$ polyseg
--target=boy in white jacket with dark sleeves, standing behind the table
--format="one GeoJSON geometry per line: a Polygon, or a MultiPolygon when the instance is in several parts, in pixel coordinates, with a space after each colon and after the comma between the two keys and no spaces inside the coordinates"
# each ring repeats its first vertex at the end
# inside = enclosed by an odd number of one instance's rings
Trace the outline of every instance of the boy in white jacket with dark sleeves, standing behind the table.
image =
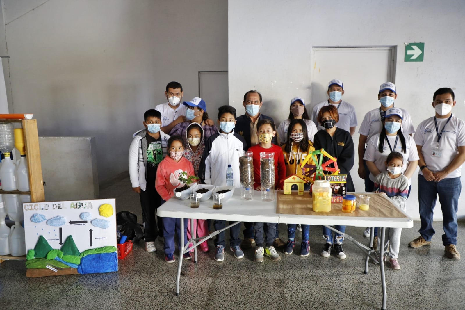
{"type": "MultiPolygon", "coordinates": [[[[205,142],[204,154],[200,161],[199,178],[205,184],[226,185],[226,170],[228,165],[231,165],[234,176],[233,185],[235,188],[240,188],[239,157],[246,150],[246,140],[233,131],[236,124],[236,109],[232,106],[220,106],[218,111],[219,132],[210,136],[205,142]]],[[[213,226],[216,230],[221,230],[226,227],[226,221],[214,220],[213,226]]],[[[229,243],[236,258],[244,257],[244,253],[239,247],[241,242],[239,231],[240,223],[230,229],[229,243]]],[[[221,231],[217,236],[215,239],[215,260],[222,262],[225,259],[225,232],[221,231]]]]}

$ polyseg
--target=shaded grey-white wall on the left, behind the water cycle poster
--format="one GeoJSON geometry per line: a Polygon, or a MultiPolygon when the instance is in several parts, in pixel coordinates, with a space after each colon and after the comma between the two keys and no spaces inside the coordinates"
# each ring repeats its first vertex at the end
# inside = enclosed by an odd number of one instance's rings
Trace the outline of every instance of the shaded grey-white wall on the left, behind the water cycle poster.
{"type": "Polygon", "coordinates": [[[191,99],[199,71],[227,70],[226,0],[2,2],[10,112],[33,113],[40,136],[96,137],[100,182],[128,169],[168,82],[191,99]]]}

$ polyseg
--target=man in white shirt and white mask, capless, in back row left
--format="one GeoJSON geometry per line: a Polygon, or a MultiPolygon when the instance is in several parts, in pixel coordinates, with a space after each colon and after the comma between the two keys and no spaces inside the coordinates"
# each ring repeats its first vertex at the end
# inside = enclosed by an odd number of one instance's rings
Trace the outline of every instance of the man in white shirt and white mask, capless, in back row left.
{"type": "Polygon", "coordinates": [[[186,120],[186,108],[181,105],[182,95],[182,86],[178,82],[169,82],[166,85],[165,96],[168,102],[155,107],[161,113],[162,132],[169,133],[175,125],[186,120]]]}

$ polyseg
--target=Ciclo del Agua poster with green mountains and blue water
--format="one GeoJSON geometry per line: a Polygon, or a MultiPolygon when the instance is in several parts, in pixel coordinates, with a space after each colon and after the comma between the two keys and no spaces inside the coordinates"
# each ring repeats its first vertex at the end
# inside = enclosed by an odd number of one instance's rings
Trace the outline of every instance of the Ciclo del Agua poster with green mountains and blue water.
{"type": "Polygon", "coordinates": [[[118,271],[115,199],[24,203],[28,277],[118,271]]]}

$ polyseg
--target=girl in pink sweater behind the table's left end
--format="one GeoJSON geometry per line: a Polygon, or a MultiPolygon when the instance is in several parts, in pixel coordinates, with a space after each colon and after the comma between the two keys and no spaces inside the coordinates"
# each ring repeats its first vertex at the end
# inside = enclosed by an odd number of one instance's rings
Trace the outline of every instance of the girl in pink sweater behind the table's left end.
{"type": "MultiPolygon", "coordinates": [[[[187,175],[195,175],[192,163],[183,157],[184,147],[183,139],[181,136],[172,136],[168,140],[168,152],[166,156],[158,165],[157,178],[155,179],[155,189],[158,191],[162,204],[169,198],[174,196],[174,189],[181,185],[179,175],[182,172],[187,172],[187,175]]],[[[182,186],[182,185],[181,185],[182,186]]],[[[163,218],[163,237],[165,261],[167,263],[174,263],[174,231],[178,234],[179,251],[181,250],[181,221],[179,218],[163,218]]],[[[184,219],[184,245],[187,244],[187,218],[184,219]]],[[[184,259],[191,259],[191,254],[186,253],[183,255],[184,259]]]]}

